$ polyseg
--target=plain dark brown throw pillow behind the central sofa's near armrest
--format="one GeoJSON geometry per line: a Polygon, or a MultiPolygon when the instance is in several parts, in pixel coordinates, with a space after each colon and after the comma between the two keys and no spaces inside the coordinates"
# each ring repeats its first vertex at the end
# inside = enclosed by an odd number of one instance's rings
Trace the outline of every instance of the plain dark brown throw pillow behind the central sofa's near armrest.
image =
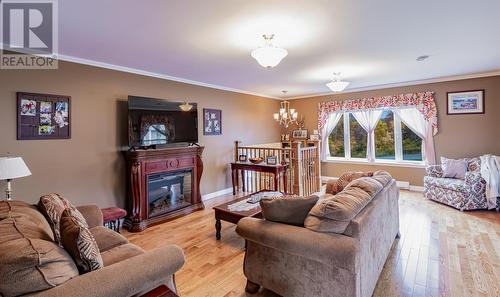
{"type": "Polygon", "coordinates": [[[272,222],[303,226],[304,220],[319,197],[280,197],[260,200],[263,217],[272,222]]]}

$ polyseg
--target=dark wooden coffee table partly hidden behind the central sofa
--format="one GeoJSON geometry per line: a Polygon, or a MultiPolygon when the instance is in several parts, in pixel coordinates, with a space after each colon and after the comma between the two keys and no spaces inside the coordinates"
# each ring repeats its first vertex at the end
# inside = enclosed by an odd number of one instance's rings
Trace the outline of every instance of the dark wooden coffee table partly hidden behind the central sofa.
{"type": "Polygon", "coordinates": [[[238,198],[236,200],[232,200],[230,202],[226,202],[224,204],[217,205],[214,207],[214,211],[215,211],[215,238],[217,238],[217,240],[220,240],[220,238],[221,238],[221,233],[220,233],[220,231],[222,229],[221,220],[226,221],[226,222],[230,222],[233,224],[237,224],[239,220],[241,220],[242,218],[245,218],[245,217],[262,218],[260,205],[258,203],[257,203],[257,207],[252,208],[248,211],[231,211],[231,210],[229,210],[229,205],[234,204],[234,203],[239,202],[239,201],[242,201],[242,200],[246,200],[246,199],[248,199],[248,197],[250,197],[256,193],[260,193],[260,192],[270,192],[270,191],[269,190],[258,191],[258,192],[248,194],[248,195],[243,196],[241,198],[238,198]]]}

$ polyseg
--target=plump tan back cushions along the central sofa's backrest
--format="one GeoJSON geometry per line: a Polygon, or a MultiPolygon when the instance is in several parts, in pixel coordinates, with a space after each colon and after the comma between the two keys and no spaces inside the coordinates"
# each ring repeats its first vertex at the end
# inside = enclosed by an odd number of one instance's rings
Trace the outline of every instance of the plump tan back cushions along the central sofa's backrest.
{"type": "Polygon", "coordinates": [[[384,171],[353,180],[342,192],[320,200],[309,212],[304,226],[316,232],[343,233],[349,222],[391,180],[384,171]]]}

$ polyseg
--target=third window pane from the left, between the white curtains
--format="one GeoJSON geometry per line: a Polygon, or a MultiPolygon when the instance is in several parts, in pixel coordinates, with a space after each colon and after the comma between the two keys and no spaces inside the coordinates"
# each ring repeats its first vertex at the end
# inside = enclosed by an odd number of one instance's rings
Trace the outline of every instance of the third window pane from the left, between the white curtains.
{"type": "Polygon", "coordinates": [[[396,159],[394,113],[390,110],[384,110],[375,127],[375,159],[396,159]]]}

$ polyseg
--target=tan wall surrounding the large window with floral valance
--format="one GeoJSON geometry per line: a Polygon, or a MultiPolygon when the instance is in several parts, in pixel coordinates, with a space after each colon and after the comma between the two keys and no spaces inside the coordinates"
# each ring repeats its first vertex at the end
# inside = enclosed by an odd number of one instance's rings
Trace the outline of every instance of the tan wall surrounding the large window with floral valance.
{"type": "MultiPolygon", "coordinates": [[[[438,109],[439,133],[434,138],[436,156],[450,158],[478,156],[485,153],[500,155],[500,76],[388,88],[339,95],[292,100],[293,108],[305,116],[306,128],[317,129],[318,103],[403,93],[434,91],[438,109]],[[485,89],[484,115],[446,115],[446,92],[485,89]]],[[[425,170],[421,168],[322,163],[322,175],[339,176],[348,170],[383,169],[396,179],[421,186],[425,170]]]]}

